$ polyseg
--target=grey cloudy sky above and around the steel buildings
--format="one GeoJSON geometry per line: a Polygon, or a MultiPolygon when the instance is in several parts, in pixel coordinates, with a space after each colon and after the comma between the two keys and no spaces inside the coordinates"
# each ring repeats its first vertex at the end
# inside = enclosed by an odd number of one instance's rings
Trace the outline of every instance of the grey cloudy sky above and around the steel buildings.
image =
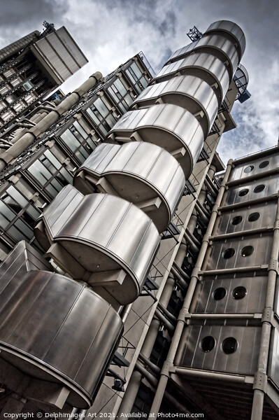
{"type": "Polygon", "coordinates": [[[143,51],[155,71],[183,45],[194,25],[203,32],[216,20],[243,29],[242,64],[252,97],[236,102],[237,128],[224,134],[219,153],[227,162],[277,144],[279,134],[279,0],[1,0],[0,48],[38,29],[43,20],[64,25],[89,59],[63,86],[73,90],[85,78],[106,75],[143,51]]]}

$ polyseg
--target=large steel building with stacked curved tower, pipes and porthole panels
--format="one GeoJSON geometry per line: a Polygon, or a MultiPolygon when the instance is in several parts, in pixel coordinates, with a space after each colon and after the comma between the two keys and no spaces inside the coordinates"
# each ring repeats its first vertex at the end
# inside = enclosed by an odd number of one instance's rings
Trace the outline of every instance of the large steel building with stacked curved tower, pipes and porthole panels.
{"type": "Polygon", "coordinates": [[[244,49],[215,22],[2,132],[2,415],[276,418],[276,155],[215,176],[244,49]]]}

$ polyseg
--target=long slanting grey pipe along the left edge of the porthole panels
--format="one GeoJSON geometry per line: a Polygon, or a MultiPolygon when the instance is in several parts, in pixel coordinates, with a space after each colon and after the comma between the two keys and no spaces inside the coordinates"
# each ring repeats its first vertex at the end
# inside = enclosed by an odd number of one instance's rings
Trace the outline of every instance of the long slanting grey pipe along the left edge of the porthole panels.
{"type": "Polygon", "coordinates": [[[153,415],[154,418],[157,418],[158,412],[159,412],[159,407],[161,405],[162,402],[162,398],[164,396],[164,391],[166,389],[166,384],[169,380],[169,369],[171,366],[173,366],[173,360],[176,356],[176,351],[178,348],[178,344],[180,342],[180,338],[183,334],[183,329],[184,329],[184,325],[185,325],[185,314],[189,313],[189,305],[192,302],[192,297],[194,295],[194,290],[196,288],[196,282],[198,281],[198,273],[199,270],[201,269],[201,265],[203,263],[203,259],[206,255],[206,251],[208,248],[208,238],[210,237],[210,235],[213,232],[213,227],[215,225],[215,221],[217,218],[217,209],[220,206],[220,203],[222,201],[222,197],[224,195],[224,190],[226,188],[226,183],[229,179],[229,174],[231,172],[231,160],[229,160],[228,165],[227,165],[227,170],[224,174],[224,179],[222,181],[222,184],[220,186],[220,191],[217,195],[217,199],[215,202],[215,206],[213,207],[213,211],[212,211],[212,215],[210,217],[210,221],[208,223],[208,228],[206,230],[206,235],[204,235],[203,237],[203,242],[201,244],[201,251],[199,253],[199,256],[196,260],[196,265],[193,269],[192,272],[192,277],[191,277],[191,281],[189,284],[189,288],[187,290],[187,295],[185,297],[184,303],[183,303],[183,308],[180,311],[180,314],[178,316],[178,323],[176,324],[176,330],[174,332],[173,335],[173,339],[171,341],[171,346],[169,349],[169,353],[168,356],[166,357],[166,361],[164,363],[164,366],[162,368],[162,372],[161,372],[161,376],[159,379],[159,384],[157,386],[157,391],[155,393],[155,398],[152,402],[152,407],[150,409],[150,412],[153,415]]]}

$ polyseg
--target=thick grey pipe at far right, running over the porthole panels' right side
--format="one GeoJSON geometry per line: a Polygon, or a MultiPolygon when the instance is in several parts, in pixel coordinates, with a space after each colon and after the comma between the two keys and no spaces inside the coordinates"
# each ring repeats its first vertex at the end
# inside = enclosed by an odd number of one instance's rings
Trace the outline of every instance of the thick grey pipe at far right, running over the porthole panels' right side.
{"type": "Polygon", "coordinates": [[[252,403],[251,420],[262,418],[264,408],[264,387],[259,386],[257,377],[267,379],[267,366],[269,361],[269,346],[271,340],[271,317],[273,314],[273,303],[276,293],[276,278],[278,272],[278,253],[279,253],[279,199],[277,202],[276,221],[273,230],[273,243],[271,248],[271,258],[269,261],[269,274],[266,288],[266,302],[262,316],[262,335],[259,346],[259,358],[257,365],[257,374],[254,381],[254,395],[252,403]]]}

